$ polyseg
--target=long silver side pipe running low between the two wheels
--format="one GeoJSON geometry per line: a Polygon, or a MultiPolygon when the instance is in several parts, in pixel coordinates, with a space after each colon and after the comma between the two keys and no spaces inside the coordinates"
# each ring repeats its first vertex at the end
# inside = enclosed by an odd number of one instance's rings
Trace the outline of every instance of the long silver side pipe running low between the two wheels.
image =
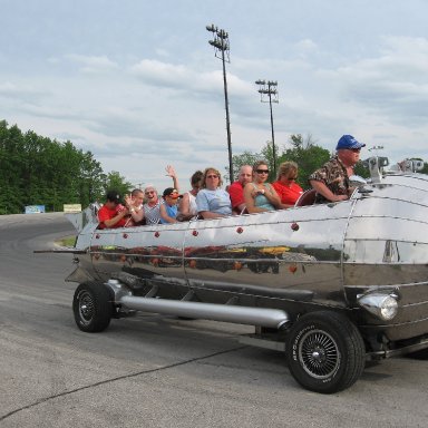
{"type": "Polygon", "coordinates": [[[169,315],[198,318],[233,322],[239,324],[261,325],[281,329],[289,321],[289,315],[280,309],[234,307],[215,303],[198,303],[183,300],[139,298],[121,295],[116,303],[136,311],[165,313],[169,315]]]}

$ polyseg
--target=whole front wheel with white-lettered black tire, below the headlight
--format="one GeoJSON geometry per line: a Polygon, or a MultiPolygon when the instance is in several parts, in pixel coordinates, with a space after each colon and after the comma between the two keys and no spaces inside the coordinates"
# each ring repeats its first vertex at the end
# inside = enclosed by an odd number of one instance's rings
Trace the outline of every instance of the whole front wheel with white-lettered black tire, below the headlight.
{"type": "Polygon", "coordinates": [[[285,354],[293,378],[321,393],[349,388],[366,363],[364,342],[357,327],[330,311],[301,317],[286,335],[285,354]]]}

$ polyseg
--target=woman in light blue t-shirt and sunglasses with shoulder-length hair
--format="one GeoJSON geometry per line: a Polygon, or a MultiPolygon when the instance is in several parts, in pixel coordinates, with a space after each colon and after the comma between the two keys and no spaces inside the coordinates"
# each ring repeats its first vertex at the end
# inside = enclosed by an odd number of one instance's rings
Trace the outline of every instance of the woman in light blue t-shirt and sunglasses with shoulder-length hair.
{"type": "Polygon", "coordinates": [[[228,193],[221,188],[222,176],[216,168],[206,168],[196,195],[197,212],[203,218],[217,218],[232,215],[228,193]]]}

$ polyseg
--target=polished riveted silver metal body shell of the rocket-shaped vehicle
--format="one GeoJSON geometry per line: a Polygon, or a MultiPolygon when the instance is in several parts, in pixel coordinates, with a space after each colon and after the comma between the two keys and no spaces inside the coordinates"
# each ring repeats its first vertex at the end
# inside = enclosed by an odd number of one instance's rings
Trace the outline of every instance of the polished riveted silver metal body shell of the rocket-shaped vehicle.
{"type": "Polygon", "coordinates": [[[140,279],[134,295],[156,286],[167,300],[192,292],[192,302],[279,309],[292,320],[341,311],[372,351],[428,335],[427,175],[383,174],[332,204],[116,230],[98,230],[93,208],[75,224],[69,281],[127,272],[140,279]],[[374,292],[398,300],[393,319],[359,304],[374,292]]]}

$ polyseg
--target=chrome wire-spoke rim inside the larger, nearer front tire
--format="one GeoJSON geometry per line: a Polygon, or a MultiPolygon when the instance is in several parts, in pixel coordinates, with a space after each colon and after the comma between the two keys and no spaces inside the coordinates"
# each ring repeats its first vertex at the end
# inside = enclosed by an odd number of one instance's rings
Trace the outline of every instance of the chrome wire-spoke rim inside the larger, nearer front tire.
{"type": "Polygon", "coordinates": [[[298,354],[304,371],[317,379],[330,378],[340,367],[338,344],[322,330],[307,332],[301,339],[298,354]]]}

